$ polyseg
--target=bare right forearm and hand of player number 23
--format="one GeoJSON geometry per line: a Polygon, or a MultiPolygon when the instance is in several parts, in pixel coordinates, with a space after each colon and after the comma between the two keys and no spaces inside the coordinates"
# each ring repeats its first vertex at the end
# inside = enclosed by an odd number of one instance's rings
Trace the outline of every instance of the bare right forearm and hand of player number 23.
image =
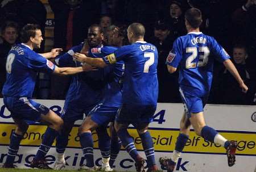
{"type": "Polygon", "coordinates": [[[245,83],[243,83],[243,79],[240,77],[240,74],[238,73],[237,68],[236,66],[234,66],[233,62],[228,59],[228,60],[225,60],[223,64],[226,67],[226,69],[228,69],[228,71],[233,75],[233,77],[236,78],[242,91],[246,93],[248,90],[248,87],[245,85],[245,83]]]}

